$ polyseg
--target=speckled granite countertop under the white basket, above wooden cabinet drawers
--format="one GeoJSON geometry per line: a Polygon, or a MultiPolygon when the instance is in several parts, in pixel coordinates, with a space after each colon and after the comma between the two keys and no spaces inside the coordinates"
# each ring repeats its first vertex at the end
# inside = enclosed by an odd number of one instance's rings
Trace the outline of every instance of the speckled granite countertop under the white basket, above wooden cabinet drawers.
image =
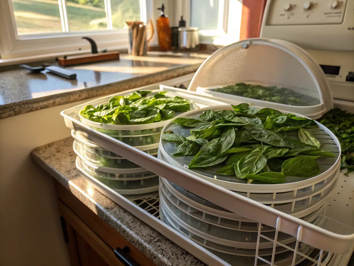
{"type": "Polygon", "coordinates": [[[92,188],[76,170],[72,138],[36,148],[32,156],[41,167],[153,261],[156,266],[206,265],[92,188]]]}

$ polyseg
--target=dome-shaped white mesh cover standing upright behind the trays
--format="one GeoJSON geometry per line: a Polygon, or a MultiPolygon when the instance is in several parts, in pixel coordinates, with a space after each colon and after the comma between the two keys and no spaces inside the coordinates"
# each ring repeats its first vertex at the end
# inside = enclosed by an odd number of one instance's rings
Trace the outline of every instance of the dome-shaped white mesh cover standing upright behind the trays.
{"type": "Polygon", "coordinates": [[[219,49],[199,67],[188,90],[311,118],[333,108],[322,69],[306,51],[282,40],[247,39],[219,49]]]}

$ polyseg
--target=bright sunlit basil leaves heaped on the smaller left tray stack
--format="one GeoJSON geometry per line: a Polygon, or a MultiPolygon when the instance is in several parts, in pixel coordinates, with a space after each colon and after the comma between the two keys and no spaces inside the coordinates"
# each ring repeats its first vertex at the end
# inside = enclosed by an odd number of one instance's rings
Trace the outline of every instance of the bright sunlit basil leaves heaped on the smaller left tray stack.
{"type": "Polygon", "coordinates": [[[149,91],[137,91],[126,96],[115,96],[105,104],[87,105],[80,115],[90,121],[118,125],[147,124],[169,120],[176,112],[190,110],[190,102],[179,96],[166,97],[166,92],[147,97],[149,91]]]}

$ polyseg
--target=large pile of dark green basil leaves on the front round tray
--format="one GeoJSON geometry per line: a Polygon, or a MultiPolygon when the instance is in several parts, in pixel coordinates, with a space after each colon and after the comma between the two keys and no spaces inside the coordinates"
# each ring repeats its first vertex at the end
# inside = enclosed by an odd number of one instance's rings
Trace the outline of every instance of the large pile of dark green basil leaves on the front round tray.
{"type": "Polygon", "coordinates": [[[311,119],[248,104],[232,107],[206,110],[199,119],[175,119],[173,123],[189,127],[192,135],[163,134],[162,139],[178,145],[172,156],[195,155],[188,168],[222,165],[216,174],[263,183],[282,183],[286,176],[316,176],[319,157],[336,157],[321,150],[319,141],[305,129],[317,126],[311,119]],[[299,140],[286,134],[298,135],[299,140]]]}

